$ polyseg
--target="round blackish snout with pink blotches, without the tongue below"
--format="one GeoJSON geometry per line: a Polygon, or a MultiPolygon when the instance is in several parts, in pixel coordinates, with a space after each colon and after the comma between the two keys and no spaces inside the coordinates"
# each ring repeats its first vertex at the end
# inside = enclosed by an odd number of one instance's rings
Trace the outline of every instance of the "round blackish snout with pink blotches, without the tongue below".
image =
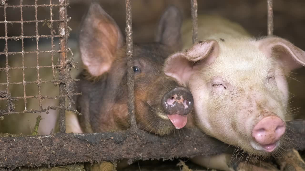
{"type": "Polygon", "coordinates": [[[194,106],[194,98],[187,88],[178,86],[164,94],[161,105],[168,115],[187,115],[194,106]]]}

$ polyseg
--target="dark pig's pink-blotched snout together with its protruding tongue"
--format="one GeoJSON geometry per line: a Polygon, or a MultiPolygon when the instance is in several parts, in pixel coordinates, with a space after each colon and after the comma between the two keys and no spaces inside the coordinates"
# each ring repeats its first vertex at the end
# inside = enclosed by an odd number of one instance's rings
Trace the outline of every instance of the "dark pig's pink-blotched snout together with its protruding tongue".
{"type": "Polygon", "coordinates": [[[185,87],[178,86],[168,91],[161,99],[164,113],[175,126],[180,129],[187,122],[187,114],[191,112],[194,105],[192,93],[185,87]]]}

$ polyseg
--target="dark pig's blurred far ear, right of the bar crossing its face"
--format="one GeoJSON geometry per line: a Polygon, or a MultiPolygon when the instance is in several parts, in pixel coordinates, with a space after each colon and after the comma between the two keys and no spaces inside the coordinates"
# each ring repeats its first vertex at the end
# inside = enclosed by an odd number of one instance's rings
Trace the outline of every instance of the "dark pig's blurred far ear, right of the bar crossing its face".
{"type": "Polygon", "coordinates": [[[176,6],[170,6],[161,16],[156,32],[156,42],[160,42],[172,48],[174,51],[181,51],[181,25],[182,15],[176,6]]]}

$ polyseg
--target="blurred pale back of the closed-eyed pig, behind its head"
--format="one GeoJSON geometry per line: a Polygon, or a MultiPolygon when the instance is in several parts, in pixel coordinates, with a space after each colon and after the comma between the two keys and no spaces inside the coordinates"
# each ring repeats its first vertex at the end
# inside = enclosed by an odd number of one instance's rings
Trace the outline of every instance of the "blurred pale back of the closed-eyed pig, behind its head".
{"type": "MultiPolygon", "coordinates": [[[[192,46],[192,20],[184,21],[181,28],[183,49],[188,49],[192,46]]],[[[247,36],[249,33],[237,23],[233,23],[220,16],[198,16],[198,40],[208,40],[220,38],[224,39],[227,35],[230,37],[239,38],[247,36]]],[[[225,39],[224,39],[225,40],[225,39]]]]}

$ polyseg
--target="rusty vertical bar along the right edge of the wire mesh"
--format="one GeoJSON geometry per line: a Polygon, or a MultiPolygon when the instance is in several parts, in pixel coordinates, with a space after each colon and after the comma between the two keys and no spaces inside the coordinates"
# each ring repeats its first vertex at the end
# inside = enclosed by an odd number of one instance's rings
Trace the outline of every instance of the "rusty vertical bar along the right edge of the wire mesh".
{"type": "MultiPolygon", "coordinates": [[[[59,63],[63,67],[59,68],[59,80],[63,81],[66,79],[66,59],[67,59],[67,21],[66,21],[66,0],[59,0],[59,19],[62,20],[59,22],[58,25],[58,31],[59,31],[59,48],[62,52],[59,52],[59,63]]],[[[65,97],[63,97],[66,94],[65,92],[65,84],[61,82],[59,84],[59,95],[62,96],[59,98],[59,132],[65,133],[66,132],[66,117],[65,117],[65,106],[66,106],[66,100],[65,97]]]]}

